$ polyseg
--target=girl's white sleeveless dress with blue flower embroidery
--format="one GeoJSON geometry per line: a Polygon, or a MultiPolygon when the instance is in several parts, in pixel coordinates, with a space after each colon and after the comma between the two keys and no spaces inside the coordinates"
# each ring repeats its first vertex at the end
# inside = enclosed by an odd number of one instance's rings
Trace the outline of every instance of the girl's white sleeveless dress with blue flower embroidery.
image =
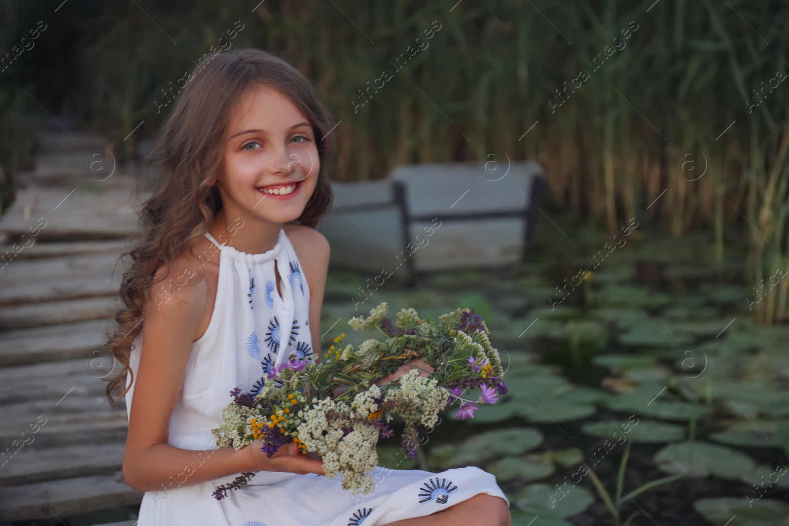
{"type": "MultiPolygon", "coordinates": [[[[197,467],[216,449],[211,429],[222,422],[230,390],[254,390],[256,382],[291,356],[312,353],[308,324],[309,288],[285,230],[268,252],[248,254],[209,240],[220,251],[219,288],[205,334],[193,343],[181,394],[170,416],[168,443],[193,454],[197,467]],[[275,286],[275,263],[282,297],[275,286]]],[[[176,291],[177,293],[177,291],[176,291]]],[[[130,366],[140,364],[142,333],[135,339],[130,366]]],[[[320,353],[320,349],[316,352],[320,353]]],[[[126,385],[129,385],[127,375],[126,385]]],[[[132,386],[125,396],[131,411],[132,386]]],[[[189,483],[189,471],[147,491],[138,526],[377,526],[423,517],[476,494],[507,497],[495,477],[481,468],[433,473],[376,467],[372,494],[352,494],[334,479],[315,473],[257,472],[247,486],[216,500],[212,493],[235,475],[189,483]]]]}

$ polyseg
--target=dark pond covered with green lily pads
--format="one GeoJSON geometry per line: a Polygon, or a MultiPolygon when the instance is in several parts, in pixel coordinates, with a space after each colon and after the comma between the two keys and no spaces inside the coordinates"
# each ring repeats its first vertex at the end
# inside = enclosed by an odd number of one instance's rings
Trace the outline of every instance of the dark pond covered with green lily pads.
{"type": "Polygon", "coordinates": [[[727,246],[720,263],[712,233],[634,230],[590,259],[611,235],[560,219],[540,225],[526,263],[412,288],[394,276],[357,308],[372,276],[330,273],[325,341],[360,343],[346,320],[383,301],[431,319],[469,307],[507,369],[498,404],[424,430],[421,462],[393,438],[380,464],[479,466],[522,526],[787,524],[789,326],[751,321],[744,253],[727,246]]]}

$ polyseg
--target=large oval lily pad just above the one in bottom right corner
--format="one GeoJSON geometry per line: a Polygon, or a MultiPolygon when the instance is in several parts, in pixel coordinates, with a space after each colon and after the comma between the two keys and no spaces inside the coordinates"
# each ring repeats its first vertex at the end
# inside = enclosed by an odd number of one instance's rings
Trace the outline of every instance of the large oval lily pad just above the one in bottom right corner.
{"type": "Polygon", "coordinates": [[[709,442],[671,444],[656,453],[655,461],[658,468],[667,473],[716,475],[724,479],[739,479],[756,467],[753,458],[745,453],[709,442]]]}

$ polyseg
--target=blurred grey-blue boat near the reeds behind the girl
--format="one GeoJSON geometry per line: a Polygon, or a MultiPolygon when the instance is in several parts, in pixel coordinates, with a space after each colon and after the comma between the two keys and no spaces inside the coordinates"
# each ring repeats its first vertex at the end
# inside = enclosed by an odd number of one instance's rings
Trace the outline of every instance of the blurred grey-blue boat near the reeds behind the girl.
{"type": "Polygon", "coordinates": [[[334,206],[318,226],[332,267],[388,268],[411,281],[429,270],[524,261],[546,185],[536,162],[513,162],[506,174],[452,162],[398,166],[385,179],[332,188],[334,206]]]}

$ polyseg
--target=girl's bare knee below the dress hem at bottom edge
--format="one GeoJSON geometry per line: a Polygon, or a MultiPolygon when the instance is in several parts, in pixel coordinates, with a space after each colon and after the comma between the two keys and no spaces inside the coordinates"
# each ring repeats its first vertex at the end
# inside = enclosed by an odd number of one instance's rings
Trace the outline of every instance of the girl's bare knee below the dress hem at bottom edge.
{"type": "Polygon", "coordinates": [[[512,526],[512,517],[503,498],[481,493],[436,513],[382,526],[512,526]]]}

